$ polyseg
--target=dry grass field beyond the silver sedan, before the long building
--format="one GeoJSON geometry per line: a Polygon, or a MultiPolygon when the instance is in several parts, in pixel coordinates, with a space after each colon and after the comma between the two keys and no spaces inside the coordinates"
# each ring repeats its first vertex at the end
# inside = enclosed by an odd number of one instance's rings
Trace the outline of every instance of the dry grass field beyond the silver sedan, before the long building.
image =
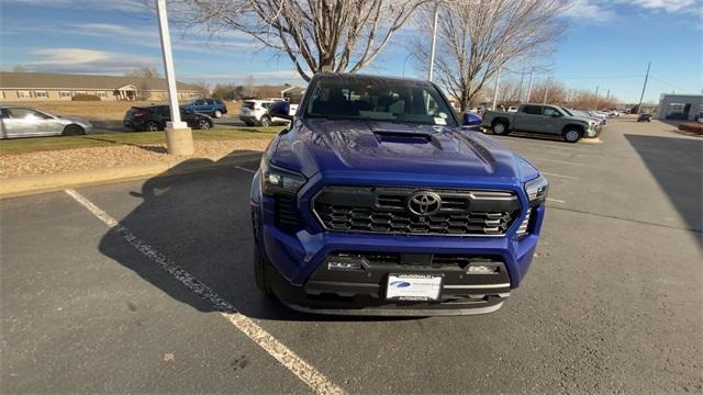
{"type": "MultiPolygon", "coordinates": [[[[185,104],[186,102],[181,102],[185,104]]],[[[54,115],[80,116],[86,120],[122,120],[133,105],[166,104],[165,101],[25,101],[2,102],[3,105],[26,105],[54,115]]],[[[239,104],[227,102],[230,116],[239,113],[239,104]]]]}

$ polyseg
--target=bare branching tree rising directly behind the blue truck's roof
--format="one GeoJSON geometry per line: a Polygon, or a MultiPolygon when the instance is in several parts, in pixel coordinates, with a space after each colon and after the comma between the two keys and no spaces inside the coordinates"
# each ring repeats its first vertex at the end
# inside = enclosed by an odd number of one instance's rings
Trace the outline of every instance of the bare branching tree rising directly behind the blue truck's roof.
{"type": "Polygon", "coordinates": [[[191,21],[234,30],[287,55],[310,81],[321,71],[368,66],[427,0],[180,0],[191,21]]]}

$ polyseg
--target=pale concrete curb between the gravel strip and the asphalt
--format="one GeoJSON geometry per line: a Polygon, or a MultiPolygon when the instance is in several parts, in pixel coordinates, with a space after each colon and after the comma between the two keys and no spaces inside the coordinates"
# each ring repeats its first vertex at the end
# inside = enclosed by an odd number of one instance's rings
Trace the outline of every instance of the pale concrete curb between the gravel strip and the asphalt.
{"type": "Polygon", "coordinates": [[[0,198],[53,192],[66,188],[98,185],[113,182],[143,180],[152,177],[187,174],[233,167],[258,160],[261,153],[233,154],[217,161],[207,158],[189,158],[170,163],[147,163],[108,169],[71,171],[58,174],[24,176],[0,180],[0,198]]]}

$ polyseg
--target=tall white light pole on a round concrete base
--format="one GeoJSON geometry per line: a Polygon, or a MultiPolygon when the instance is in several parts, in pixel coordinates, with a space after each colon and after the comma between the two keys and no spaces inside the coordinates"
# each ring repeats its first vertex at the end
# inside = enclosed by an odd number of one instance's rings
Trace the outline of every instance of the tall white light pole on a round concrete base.
{"type": "Polygon", "coordinates": [[[174,54],[171,53],[171,37],[168,32],[168,15],[166,0],[156,1],[158,14],[158,31],[161,38],[161,55],[164,57],[164,75],[168,86],[168,105],[171,111],[171,122],[166,123],[166,147],[171,155],[191,155],[193,153],[193,134],[185,122],[180,120],[178,106],[178,91],[176,90],[176,74],[174,71],[174,54]]]}

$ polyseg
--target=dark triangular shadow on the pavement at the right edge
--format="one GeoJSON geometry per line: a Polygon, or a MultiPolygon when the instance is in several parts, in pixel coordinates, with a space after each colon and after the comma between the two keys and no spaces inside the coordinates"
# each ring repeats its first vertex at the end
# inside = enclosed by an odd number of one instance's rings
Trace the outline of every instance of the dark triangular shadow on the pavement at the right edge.
{"type": "Polygon", "coordinates": [[[703,140],[633,134],[625,138],[703,246],[703,140]]]}

